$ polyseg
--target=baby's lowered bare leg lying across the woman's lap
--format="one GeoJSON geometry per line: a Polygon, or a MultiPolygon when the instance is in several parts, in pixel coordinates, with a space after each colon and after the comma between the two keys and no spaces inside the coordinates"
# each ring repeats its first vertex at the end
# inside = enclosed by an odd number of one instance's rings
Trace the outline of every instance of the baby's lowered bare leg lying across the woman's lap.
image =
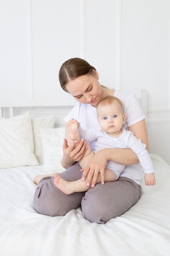
{"type": "MultiPolygon", "coordinates": [[[[111,171],[110,169],[106,168],[104,173],[104,180],[105,182],[113,182],[116,180],[116,175],[111,171]]],[[[101,182],[101,176],[98,175],[97,183],[101,182]]],[[[91,186],[86,186],[86,181],[76,180],[73,182],[68,182],[60,177],[59,174],[57,174],[54,177],[54,184],[55,186],[60,189],[64,194],[69,195],[74,192],[84,192],[91,188],[91,186]]]]}

